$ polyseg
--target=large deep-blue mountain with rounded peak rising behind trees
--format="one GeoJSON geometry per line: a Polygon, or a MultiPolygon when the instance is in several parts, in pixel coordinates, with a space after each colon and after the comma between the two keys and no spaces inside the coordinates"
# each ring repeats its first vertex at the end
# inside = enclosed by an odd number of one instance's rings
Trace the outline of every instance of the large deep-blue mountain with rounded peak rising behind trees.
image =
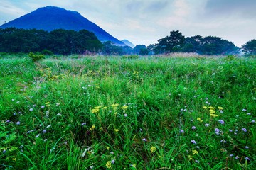
{"type": "Polygon", "coordinates": [[[124,45],[123,42],[117,40],[112,35],[107,33],[105,30],[97,26],[95,23],[87,20],[76,11],[68,11],[64,8],[58,8],[55,6],[46,6],[38,8],[36,11],[28,13],[20,18],[16,18],[13,21],[4,23],[0,28],[23,28],[38,30],[89,30],[95,33],[97,38],[104,41],[112,41],[114,45],[124,45]]]}

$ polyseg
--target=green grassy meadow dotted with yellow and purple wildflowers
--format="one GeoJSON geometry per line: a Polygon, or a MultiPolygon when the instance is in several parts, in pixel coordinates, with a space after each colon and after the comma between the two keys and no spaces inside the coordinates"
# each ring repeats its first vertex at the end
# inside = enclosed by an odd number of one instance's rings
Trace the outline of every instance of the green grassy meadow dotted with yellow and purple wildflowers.
{"type": "Polygon", "coordinates": [[[0,169],[254,169],[252,57],[0,58],[0,169]]]}

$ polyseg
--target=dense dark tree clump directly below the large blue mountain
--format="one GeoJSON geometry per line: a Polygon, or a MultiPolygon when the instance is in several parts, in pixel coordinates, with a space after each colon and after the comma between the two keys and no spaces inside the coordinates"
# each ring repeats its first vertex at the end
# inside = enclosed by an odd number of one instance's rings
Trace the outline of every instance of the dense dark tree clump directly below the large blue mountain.
{"type": "Polygon", "coordinates": [[[71,55],[98,52],[102,43],[88,30],[25,30],[0,28],[0,52],[53,52],[71,55]]]}

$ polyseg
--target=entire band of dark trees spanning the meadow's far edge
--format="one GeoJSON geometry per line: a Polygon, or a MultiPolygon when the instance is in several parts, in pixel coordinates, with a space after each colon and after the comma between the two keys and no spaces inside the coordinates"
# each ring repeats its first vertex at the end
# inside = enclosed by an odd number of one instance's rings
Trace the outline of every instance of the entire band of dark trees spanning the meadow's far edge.
{"type": "Polygon", "coordinates": [[[185,37],[178,30],[158,40],[158,43],[129,46],[117,46],[113,42],[100,42],[94,33],[88,30],[57,29],[25,30],[18,28],[0,28],[0,52],[41,52],[46,55],[101,54],[101,55],[161,55],[171,52],[196,52],[199,55],[236,55],[241,52],[255,55],[256,40],[250,40],[242,49],[233,42],[215,36],[196,35],[185,37]]]}

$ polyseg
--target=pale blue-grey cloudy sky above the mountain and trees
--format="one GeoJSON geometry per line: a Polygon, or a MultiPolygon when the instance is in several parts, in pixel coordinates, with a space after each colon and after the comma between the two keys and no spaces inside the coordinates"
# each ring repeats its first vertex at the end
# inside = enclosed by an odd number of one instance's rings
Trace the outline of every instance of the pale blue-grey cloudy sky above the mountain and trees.
{"type": "Polygon", "coordinates": [[[44,6],[78,11],[119,40],[154,44],[171,30],[239,47],[256,38],[256,0],[1,0],[0,25],[44,6]]]}

